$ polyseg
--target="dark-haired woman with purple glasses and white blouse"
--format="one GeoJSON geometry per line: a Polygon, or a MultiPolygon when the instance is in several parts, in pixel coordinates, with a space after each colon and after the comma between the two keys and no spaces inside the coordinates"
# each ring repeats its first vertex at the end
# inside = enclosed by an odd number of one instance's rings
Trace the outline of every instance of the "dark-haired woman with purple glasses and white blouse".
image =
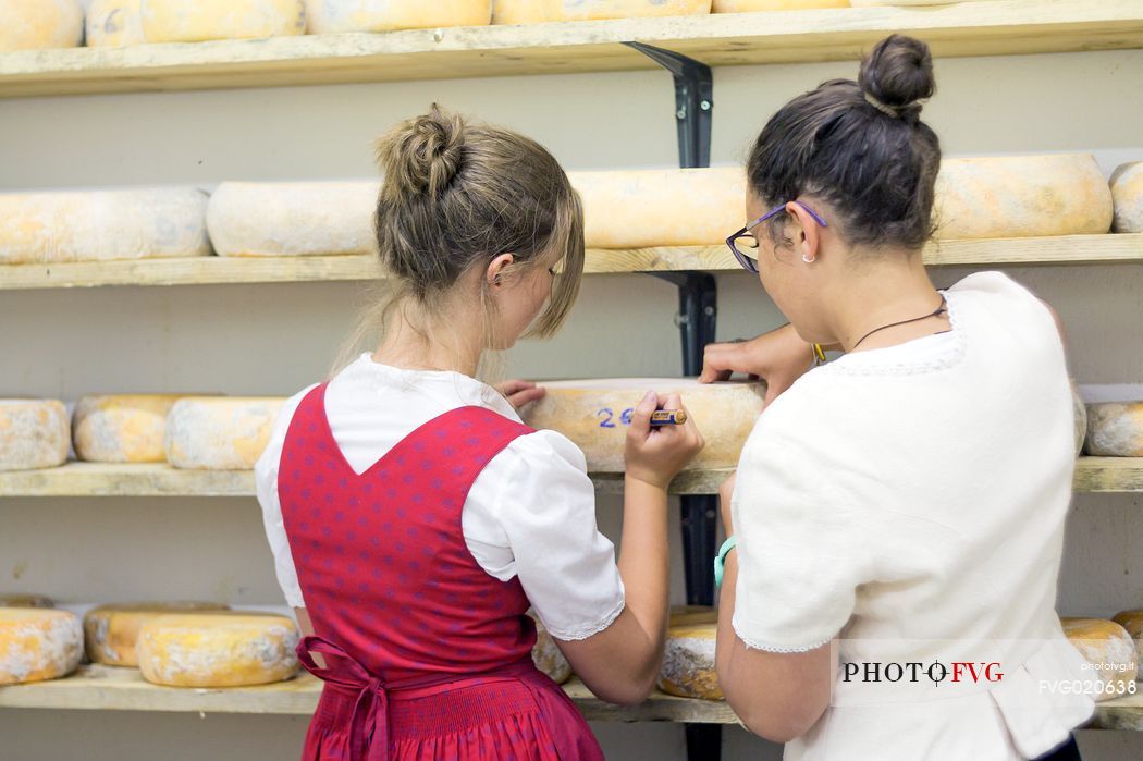
{"type": "Polygon", "coordinates": [[[930,281],[934,88],[927,46],[894,35],[788,103],[727,239],[791,325],[706,351],[704,380],[769,383],[721,495],[718,673],[788,760],[1076,759],[1093,710],[1055,612],[1058,323],[998,272],[930,281]]]}

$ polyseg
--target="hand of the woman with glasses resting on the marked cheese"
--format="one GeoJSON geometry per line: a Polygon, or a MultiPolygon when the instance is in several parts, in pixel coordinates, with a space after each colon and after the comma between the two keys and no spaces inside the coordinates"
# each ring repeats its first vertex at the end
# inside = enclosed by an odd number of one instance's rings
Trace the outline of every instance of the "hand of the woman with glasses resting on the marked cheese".
{"type": "Polygon", "coordinates": [[[788,325],[741,343],[708,344],[698,382],[726,380],[732,373],[748,373],[766,380],[765,403],[769,406],[806,374],[813,359],[813,347],[788,325]]]}

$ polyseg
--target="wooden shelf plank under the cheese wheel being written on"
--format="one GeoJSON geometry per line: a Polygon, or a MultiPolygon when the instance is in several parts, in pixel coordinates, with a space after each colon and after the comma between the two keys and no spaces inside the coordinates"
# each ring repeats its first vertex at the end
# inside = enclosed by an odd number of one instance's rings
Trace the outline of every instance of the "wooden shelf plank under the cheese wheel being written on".
{"type": "MultiPolygon", "coordinates": [[[[684,471],[671,494],[718,494],[730,468],[684,471]]],[[[592,473],[599,494],[622,494],[622,473],[592,473]]],[[[1143,458],[1080,457],[1076,491],[1143,491],[1143,458]]],[[[42,471],[0,472],[0,497],[253,497],[253,471],[181,471],[163,463],[71,462],[42,471]]]]}

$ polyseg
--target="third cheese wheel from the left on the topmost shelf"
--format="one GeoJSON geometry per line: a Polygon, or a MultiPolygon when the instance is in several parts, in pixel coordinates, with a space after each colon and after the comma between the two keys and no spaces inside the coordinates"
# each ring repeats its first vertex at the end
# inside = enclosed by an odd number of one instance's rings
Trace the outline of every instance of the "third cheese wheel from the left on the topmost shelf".
{"type": "Polygon", "coordinates": [[[303,0],[145,0],[146,42],[201,42],[305,34],[303,0]]]}

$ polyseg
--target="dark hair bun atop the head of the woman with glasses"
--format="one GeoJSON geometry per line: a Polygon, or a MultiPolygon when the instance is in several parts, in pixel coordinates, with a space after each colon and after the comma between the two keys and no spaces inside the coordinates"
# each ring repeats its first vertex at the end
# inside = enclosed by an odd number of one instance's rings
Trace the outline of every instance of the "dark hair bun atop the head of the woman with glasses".
{"type": "Polygon", "coordinates": [[[878,42],[862,62],[857,82],[866,95],[900,115],[916,118],[921,110],[918,101],[932,97],[936,90],[933,55],[920,40],[893,34],[878,42]]]}

